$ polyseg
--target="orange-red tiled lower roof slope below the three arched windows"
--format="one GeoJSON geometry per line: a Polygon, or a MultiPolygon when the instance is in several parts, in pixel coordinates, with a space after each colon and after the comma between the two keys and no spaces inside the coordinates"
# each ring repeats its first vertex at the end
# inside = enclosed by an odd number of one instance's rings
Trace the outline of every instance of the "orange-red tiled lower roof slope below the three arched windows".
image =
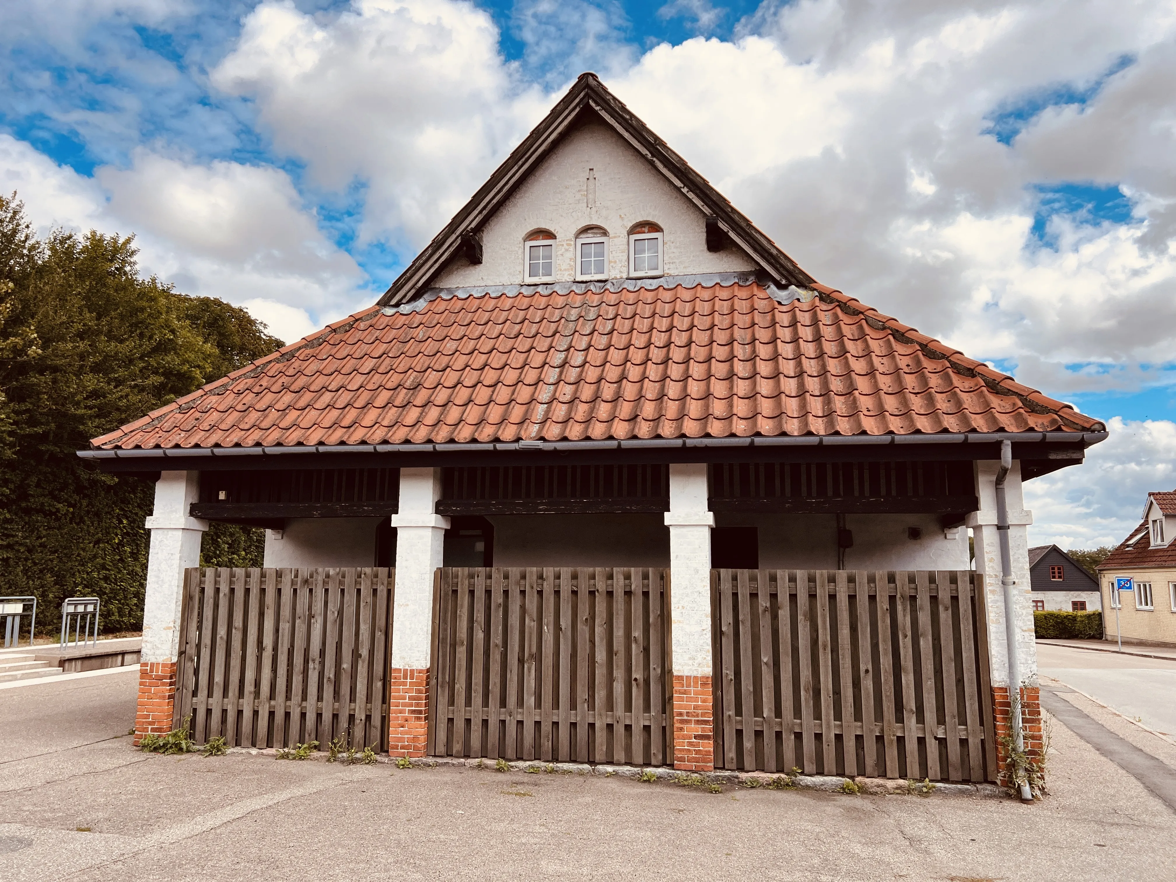
{"type": "Polygon", "coordinates": [[[1101,430],[823,286],[440,296],[373,308],[102,448],[1101,430]]]}

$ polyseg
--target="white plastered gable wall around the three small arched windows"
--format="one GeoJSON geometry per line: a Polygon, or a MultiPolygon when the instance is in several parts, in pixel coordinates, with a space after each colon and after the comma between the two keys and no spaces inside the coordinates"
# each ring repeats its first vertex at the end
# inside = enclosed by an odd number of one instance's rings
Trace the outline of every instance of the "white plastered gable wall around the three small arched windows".
{"type": "Polygon", "coordinates": [[[523,239],[534,229],[555,236],[555,279],[575,279],[575,235],[603,227],[609,235],[609,278],[628,275],[628,233],[634,223],[653,221],[664,232],[666,275],[729,273],[756,266],[729,245],[707,250],[703,213],[608,126],[592,122],[572,132],[532,172],[482,227],[482,262],[455,258],[434,287],[523,282],[523,239]],[[595,200],[588,205],[588,169],[595,176],[595,200]]]}

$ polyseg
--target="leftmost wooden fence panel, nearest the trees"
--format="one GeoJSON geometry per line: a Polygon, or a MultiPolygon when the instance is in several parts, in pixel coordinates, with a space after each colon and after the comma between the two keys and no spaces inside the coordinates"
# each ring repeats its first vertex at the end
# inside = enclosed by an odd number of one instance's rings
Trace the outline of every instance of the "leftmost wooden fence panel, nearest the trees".
{"type": "Polygon", "coordinates": [[[188,569],[175,724],[200,743],[388,743],[395,570],[188,569]]]}

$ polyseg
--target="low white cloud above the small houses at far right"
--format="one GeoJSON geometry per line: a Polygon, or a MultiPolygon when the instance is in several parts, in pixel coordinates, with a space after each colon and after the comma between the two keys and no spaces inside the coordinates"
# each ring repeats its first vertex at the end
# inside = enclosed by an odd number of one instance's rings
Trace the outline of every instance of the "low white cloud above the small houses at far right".
{"type": "Polygon", "coordinates": [[[1082,466],[1024,485],[1035,521],[1033,544],[1116,546],[1140,523],[1149,492],[1176,489],[1176,422],[1116,416],[1108,429],[1109,437],[1087,450],[1082,466]]]}

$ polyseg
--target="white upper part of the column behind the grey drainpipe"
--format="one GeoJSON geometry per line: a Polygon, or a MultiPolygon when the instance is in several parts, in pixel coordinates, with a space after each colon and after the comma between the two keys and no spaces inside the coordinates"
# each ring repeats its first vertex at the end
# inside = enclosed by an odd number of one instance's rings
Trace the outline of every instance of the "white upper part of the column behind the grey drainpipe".
{"type": "MultiPolygon", "coordinates": [[[[1001,588],[1001,543],[996,530],[996,473],[1001,463],[984,460],[976,463],[976,495],[980,510],[968,515],[976,552],[976,572],[984,574],[988,609],[988,649],[991,659],[993,686],[1009,686],[1008,641],[1004,632],[1004,597],[1001,588]]],[[[1021,487],[1021,462],[1014,460],[1004,481],[1009,508],[1009,549],[1013,554],[1014,621],[1021,676],[1029,686],[1037,684],[1037,644],[1034,639],[1033,600],[1029,582],[1029,524],[1033,512],[1024,508],[1021,487]]]]}

